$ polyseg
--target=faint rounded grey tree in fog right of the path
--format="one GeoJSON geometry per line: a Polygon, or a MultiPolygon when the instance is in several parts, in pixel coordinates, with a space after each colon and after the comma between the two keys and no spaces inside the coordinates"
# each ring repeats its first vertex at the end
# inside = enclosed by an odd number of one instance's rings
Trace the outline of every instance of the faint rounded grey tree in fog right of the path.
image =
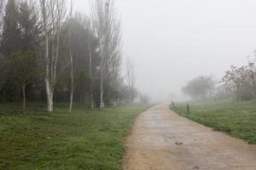
{"type": "Polygon", "coordinates": [[[212,76],[196,77],[189,81],[182,88],[182,91],[183,94],[188,95],[191,99],[212,98],[215,84],[212,76]]]}

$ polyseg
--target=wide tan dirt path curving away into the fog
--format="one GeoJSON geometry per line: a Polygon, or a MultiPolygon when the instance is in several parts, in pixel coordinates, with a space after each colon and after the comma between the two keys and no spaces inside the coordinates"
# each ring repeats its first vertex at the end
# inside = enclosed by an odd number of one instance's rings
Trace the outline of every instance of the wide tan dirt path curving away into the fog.
{"type": "Polygon", "coordinates": [[[124,169],[256,170],[256,146],[212,132],[157,105],[137,117],[124,169]]]}

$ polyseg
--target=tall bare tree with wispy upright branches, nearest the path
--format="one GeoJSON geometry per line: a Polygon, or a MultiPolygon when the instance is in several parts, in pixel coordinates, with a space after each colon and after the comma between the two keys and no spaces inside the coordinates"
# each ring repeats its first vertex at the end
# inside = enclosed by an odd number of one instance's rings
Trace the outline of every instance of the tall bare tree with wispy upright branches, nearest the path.
{"type": "Polygon", "coordinates": [[[113,4],[113,0],[90,2],[93,30],[100,42],[101,109],[104,107],[104,80],[109,81],[111,78],[117,78],[121,64],[121,26],[120,21],[116,18],[113,4]]]}

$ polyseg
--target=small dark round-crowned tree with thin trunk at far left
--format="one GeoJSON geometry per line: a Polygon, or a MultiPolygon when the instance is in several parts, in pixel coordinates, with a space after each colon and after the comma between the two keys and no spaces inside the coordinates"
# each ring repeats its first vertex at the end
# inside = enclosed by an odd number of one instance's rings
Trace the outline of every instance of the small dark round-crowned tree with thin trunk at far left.
{"type": "Polygon", "coordinates": [[[36,54],[32,51],[17,52],[9,59],[12,72],[10,80],[22,89],[23,111],[26,111],[26,86],[38,79],[41,71],[35,62],[36,54]]]}

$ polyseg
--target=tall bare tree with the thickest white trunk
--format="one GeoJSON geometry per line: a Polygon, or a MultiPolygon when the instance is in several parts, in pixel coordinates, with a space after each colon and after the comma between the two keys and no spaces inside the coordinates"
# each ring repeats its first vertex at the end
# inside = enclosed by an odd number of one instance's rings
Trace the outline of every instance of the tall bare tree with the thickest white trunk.
{"type": "Polygon", "coordinates": [[[44,29],[44,62],[47,110],[53,111],[57,63],[60,55],[61,23],[66,16],[65,0],[41,0],[44,29]],[[50,46],[49,46],[50,44],[50,46]]]}

